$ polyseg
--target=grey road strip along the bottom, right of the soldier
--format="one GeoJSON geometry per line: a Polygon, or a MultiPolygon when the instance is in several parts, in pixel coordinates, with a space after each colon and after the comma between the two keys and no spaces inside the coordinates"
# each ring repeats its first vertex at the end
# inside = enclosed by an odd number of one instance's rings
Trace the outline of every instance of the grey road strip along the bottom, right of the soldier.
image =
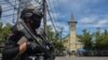
{"type": "Polygon", "coordinates": [[[56,60],[108,60],[108,57],[57,57],[56,60]]]}

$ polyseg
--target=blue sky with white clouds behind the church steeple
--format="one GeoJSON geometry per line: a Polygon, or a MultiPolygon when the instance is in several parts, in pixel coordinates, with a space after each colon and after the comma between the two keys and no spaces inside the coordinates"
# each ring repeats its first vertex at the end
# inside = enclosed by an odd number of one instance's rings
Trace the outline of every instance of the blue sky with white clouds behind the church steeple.
{"type": "MultiPolygon", "coordinates": [[[[77,22],[77,34],[82,34],[83,29],[87,29],[93,33],[96,28],[100,28],[102,31],[108,28],[108,0],[46,0],[52,16],[55,18],[56,29],[63,30],[63,36],[69,34],[68,21],[73,16],[77,22]]],[[[4,4],[3,6],[8,6],[4,4]]],[[[4,12],[5,14],[12,14],[13,11],[4,12]]],[[[6,17],[8,18],[8,17],[6,17]]],[[[2,18],[3,22],[12,22],[2,18]]],[[[51,25],[48,16],[48,24],[51,25]]]]}

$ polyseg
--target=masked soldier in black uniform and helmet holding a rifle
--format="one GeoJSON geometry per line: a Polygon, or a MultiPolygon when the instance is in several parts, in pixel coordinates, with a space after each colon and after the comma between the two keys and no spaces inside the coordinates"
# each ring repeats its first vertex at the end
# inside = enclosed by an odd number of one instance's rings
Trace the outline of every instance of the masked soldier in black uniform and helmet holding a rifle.
{"type": "MultiPolygon", "coordinates": [[[[35,6],[28,6],[26,9],[24,9],[21,13],[21,18],[24,20],[24,22],[26,24],[26,26],[35,33],[37,34],[36,29],[38,29],[40,27],[41,24],[41,18],[42,18],[42,13],[39,11],[35,10],[35,6]]],[[[6,43],[5,43],[5,47],[3,50],[3,59],[2,60],[30,60],[29,58],[29,54],[32,50],[28,50],[28,44],[27,42],[24,42],[22,44],[17,44],[17,42],[19,41],[19,39],[23,36],[24,34],[18,31],[15,30],[13,31],[13,33],[9,36],[6,43]],[[16,59],[17,54],[19,55],[19,57],[16,59]]],[[[36,46],[36,50],[35,51],[39,51],[39,46],[36,46]]]]}

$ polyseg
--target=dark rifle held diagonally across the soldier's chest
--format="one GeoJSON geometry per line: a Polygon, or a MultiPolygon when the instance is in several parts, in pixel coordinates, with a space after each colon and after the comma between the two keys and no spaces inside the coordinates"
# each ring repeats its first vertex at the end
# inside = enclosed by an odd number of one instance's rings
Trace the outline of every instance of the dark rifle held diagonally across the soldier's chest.
{"type": "Polygon", "coordinates": [[[24,32],[25,36],[27,39],[30,38],[36,44],[38,44],[41,47],[41,50],[43,51],[44,56],[45,55],[49,56],[48,60],[54,60],[54,55],[51,51],[51,48],[53,46],[50,44],[50,42],[40,34],[37,34],[37,35],[33,34],[23,20],[18,21],[17,24],[23,26],[23,28],[24,28],[23,32],[24,32]],[[38,40],[38,38],[40,38],[41,41],[38,40]]]}

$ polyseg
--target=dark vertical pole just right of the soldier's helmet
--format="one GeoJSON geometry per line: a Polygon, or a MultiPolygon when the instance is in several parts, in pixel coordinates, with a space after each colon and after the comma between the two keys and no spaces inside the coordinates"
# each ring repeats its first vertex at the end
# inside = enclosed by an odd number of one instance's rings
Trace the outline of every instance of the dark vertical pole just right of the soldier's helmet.
{"type": "Polygon", "coordinates": [[[46,0],[43,0],[43,27],[44,27],[44,35],[46,36],[46,0]]]}

